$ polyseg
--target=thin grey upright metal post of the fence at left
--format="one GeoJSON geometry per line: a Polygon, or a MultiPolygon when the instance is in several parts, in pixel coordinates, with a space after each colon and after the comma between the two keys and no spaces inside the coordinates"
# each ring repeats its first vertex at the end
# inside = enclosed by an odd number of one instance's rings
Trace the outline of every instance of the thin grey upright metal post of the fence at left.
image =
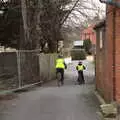
{"type": "Polygon", "coordinates": [[[21,67],[20,67],[20,52],[17,51],[17,68],[18,68],[18,81],[19,81],[19,88],[22,87],[21,82],[21,67]]]}

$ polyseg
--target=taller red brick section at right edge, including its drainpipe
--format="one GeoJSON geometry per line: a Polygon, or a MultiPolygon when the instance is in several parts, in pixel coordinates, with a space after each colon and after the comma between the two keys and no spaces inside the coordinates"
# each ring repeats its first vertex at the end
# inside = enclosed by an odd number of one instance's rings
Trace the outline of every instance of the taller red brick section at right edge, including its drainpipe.
{"type": "Polygon", "coordinates": [[[104,96],[120,102],[120,9],[112,6],[107,8],[105,69],[104,96]]]}

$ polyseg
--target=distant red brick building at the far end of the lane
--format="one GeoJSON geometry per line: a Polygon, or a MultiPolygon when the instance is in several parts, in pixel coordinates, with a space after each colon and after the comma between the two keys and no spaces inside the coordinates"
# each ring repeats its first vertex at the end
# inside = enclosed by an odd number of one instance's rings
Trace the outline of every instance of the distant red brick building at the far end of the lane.
{"type": "Polygon", "coordinates": [[[81,32],[81,40],[90,39],[92,44],[96,44],[96,33],[94,31],[94,25],[89,26],[81,32]]]}

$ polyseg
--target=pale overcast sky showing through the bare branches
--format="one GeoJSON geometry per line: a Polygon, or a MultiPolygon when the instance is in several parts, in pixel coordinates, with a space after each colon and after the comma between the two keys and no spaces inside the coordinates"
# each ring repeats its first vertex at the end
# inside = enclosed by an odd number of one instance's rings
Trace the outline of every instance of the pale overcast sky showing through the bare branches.
{"type": "MultiPolygon", "coordinates": [[[[73,5],[71,5],[73,6],[73,5]]],[[[68,20],[66,21],[66,25],[74,26],[76,24],[81,24],[86,19],[93,18],[96,14],[99,14],[100,18],[105,17],[106,5],[100,3],[99,0],[81,0],[80,4],[76,7],[77,10],[73,11],[70,14],[68,20]],[[79,12],[80,11],[80,12],[79,12]],[[83,13],[83,15],[81,14],[83,13]],[[86,15],[88,17],[86,17],[86,15]]]]}

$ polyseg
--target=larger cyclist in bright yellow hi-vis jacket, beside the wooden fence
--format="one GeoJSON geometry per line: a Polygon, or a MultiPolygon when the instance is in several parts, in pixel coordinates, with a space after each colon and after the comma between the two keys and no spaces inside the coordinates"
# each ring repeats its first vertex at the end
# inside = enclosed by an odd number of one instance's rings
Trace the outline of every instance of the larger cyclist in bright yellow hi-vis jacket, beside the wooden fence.
{"type": "Polygon", "coordinates": [[[63,59],[62,55],[58,55],[58,58],[56,60],[56,74],[61,73],[61,84],[64,84],[64,69],[67,69],[67,65],[65,64],[65,61],[63,59]]]}

